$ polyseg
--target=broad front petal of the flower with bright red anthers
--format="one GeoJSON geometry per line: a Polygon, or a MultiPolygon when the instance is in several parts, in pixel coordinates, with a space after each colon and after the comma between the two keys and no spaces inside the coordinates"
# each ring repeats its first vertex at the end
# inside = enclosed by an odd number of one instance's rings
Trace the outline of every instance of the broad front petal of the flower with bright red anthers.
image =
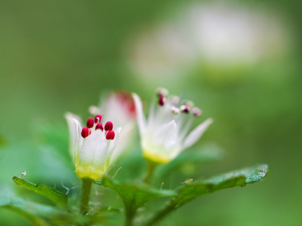
{"type": "Polygon", "coordinates": [[[104,168],[107,155],[107,140],[101,130],[95,130],[84,139],[79,153],[80,164],[90,164],[92,167],[104,168]]]}

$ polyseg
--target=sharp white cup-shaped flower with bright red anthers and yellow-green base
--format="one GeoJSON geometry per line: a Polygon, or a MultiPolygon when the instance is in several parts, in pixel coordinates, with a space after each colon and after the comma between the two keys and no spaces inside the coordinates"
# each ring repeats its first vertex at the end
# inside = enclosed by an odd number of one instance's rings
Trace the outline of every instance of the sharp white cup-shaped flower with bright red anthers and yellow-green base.
{"type": "Polygon", "coordinates": [[[86,127],[82,128],[79,117],[66,114],[70,130],[71,144],[73,141],[74,160],[77,176],[99,180],[110,166],[110,159],[120,138],[121,128],[115,132],[112,122],[102,124],[102,115],[89,118],[86,127]],[[73,123],[72,123],[73,122],[73,123]]]}

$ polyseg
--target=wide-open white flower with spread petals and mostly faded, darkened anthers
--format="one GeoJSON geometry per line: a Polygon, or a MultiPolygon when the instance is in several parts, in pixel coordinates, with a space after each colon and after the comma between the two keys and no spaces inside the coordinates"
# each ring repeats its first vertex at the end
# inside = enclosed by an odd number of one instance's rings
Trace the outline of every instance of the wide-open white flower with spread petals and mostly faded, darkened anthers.
{"type": "Polygon", "coordinates": [[[191,147],[212,123],[209,118],[189,133],[193,118],[201,115],[193,102],[180,104],[177,96],[168,96],[166,89],[157,89],[157,102],[153,102],[148,120],[145,119],[140,97],[133,93],[140,130],[143,156],[156,163],[168,163],[182,150],[191,147]]]}

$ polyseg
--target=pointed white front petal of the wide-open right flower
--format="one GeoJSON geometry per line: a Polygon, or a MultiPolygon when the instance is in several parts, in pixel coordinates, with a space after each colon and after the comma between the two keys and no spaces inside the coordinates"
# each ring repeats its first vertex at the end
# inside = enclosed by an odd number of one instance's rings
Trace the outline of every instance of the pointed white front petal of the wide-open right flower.
{"type": "Polygon", "coordinates": [[[155,145],[163,145],[166,149],[170,149],[177,141],[177,129],[174,120],[159,127],[153,134],[152,143],[155,145]]]}

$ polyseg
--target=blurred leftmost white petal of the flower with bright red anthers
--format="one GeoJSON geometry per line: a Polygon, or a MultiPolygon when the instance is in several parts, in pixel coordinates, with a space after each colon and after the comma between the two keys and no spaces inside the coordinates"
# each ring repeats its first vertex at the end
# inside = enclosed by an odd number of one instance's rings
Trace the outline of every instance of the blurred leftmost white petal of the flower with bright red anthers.
{"type": "Polygon", "coordinates": [[[81,119],[79,118],[79,116],[74,115],[69,112],[67,112],[64,116],[66,118],[68,128],[69,128],[69,154],[70,154],[71,158],[74,159],[74,157],[75,157],[75,140],[76,140],[77,131],[76,131],[76,123],[75,123],[75,121],[73,121],[73,119],[75,118],[79,122],[79,124],[81,124],[81,119]]]}

